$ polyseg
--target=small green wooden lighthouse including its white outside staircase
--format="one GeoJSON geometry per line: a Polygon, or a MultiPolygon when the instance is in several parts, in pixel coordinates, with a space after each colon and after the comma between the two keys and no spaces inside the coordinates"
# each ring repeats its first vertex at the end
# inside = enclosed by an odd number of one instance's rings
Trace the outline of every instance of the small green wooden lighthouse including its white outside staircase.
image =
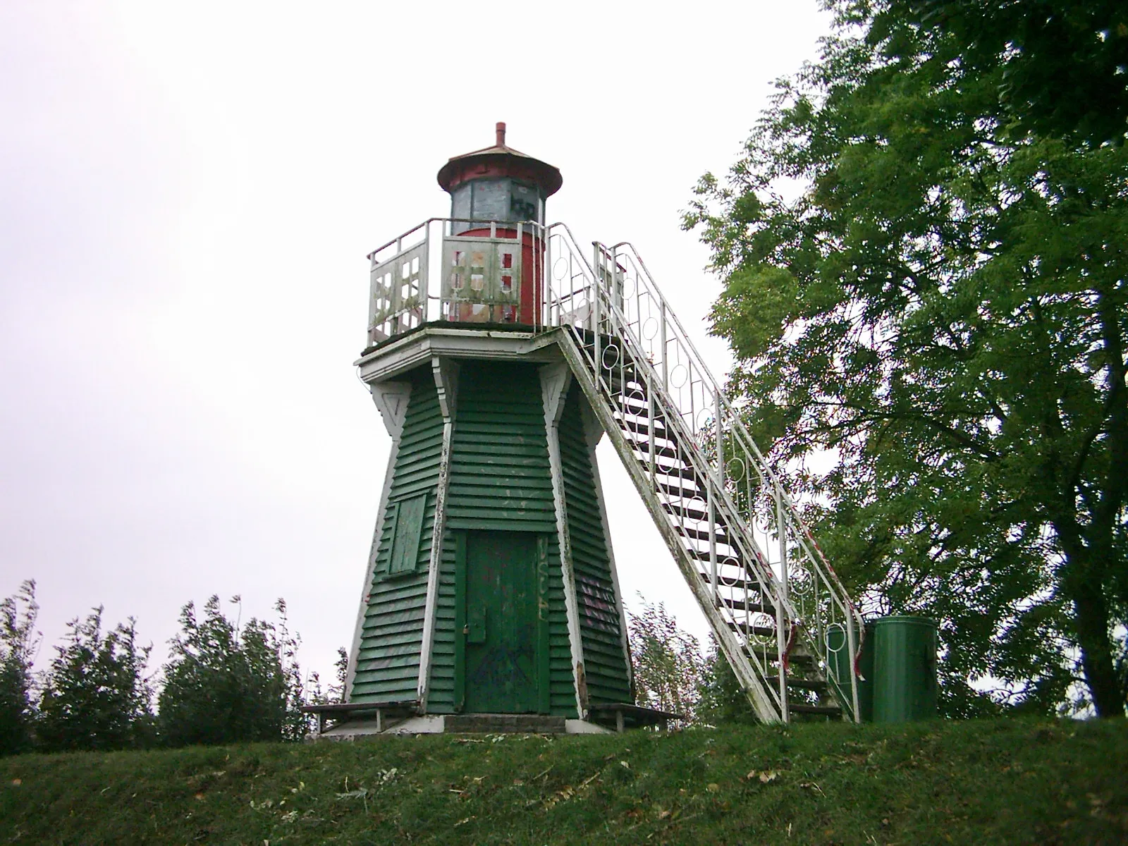
{"type": "Polygon", "coordinates": [[[355,365],[391,449],[319,732],[676,716],[635,703],[603,438],[756,713],[857,719],[861,620],[637,253],[548,223],[561,171],[503,123],[438,182],[449,217],[369,255],[355,365]]]}

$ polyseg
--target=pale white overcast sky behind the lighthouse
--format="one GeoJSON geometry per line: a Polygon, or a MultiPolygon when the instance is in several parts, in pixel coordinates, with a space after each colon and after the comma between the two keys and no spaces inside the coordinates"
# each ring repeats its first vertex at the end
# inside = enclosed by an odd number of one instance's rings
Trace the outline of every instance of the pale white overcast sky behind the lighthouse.
{"type": "MultiPolygon", "coordinates": [[[[437,170],[505,121],[564,175],[549,220],[633,241],[721,378],[679,211],[828,26],[814,0],[0,3],[0,596],[35,579],[49,643],[133,615],[155,666],[188,599],[281,596],[331,676],[390,443],[352,368],[364,255],[447,214],[437,170]]],[[[628,605],[704,640],[600,462],[628,605]]]]}

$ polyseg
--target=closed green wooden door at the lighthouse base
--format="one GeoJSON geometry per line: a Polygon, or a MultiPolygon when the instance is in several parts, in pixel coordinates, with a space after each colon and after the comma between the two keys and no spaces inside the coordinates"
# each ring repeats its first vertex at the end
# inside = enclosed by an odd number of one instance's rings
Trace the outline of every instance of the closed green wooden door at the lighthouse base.
{"type": "Polygon", "coordinates": [[[523,531],[467,531],[465,699],[478,714],[539,708],[538,544],[523,531]]]}

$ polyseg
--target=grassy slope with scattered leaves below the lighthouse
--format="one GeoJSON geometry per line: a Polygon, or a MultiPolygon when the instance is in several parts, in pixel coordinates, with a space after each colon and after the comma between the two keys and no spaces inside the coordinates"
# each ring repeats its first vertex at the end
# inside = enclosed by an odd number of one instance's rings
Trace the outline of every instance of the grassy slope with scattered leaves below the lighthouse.
{"type": "Polygon", "coordinates": [[[0,843],[1116,844],[1128,725],[800,724],[0,759],[0,843]]]}

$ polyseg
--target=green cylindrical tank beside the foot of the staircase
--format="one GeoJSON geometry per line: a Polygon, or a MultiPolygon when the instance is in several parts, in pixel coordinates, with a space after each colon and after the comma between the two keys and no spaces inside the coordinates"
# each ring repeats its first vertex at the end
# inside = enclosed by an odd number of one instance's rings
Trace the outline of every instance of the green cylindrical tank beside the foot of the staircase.
{"type": "Polygon", "coordinates": [[[873,622],[873,721],[936,716],[936,623],[924,617],[873,622]]]}

